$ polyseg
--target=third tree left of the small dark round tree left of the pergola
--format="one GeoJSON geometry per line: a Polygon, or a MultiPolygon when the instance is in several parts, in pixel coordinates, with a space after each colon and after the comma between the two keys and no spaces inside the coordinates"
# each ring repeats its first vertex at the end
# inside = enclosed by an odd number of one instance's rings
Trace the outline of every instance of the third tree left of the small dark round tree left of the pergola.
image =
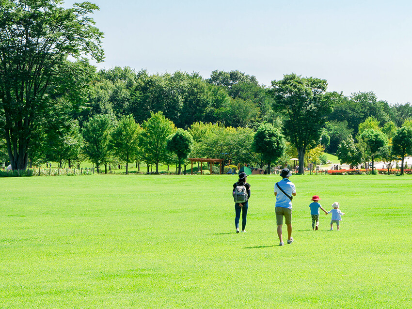
{"type": "MultiPolygon", "coordinates": [[[[112,130],[110,115],[96,115],[83,127],[83,153],[92,161],[99,172],[99,166],[110,158],[109,140],[112,130]]],[[[105,170],[107,172],[107,170],[105,170]]]]}

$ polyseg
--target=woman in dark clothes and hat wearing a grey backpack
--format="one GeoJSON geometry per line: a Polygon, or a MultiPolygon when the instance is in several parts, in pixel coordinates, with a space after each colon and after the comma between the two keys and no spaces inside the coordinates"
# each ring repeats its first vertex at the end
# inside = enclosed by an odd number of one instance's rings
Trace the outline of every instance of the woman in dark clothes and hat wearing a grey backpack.
{"type": "Polygon", "coordinates": [[[251,185],[246,181],[247,176],[245,172],[239,173],[239,180],[233,184],[232,195],[235,200],[235,228],[237,233],[240,232],[240,213],[242,214],[242,232],[246,232],[246,216],[248,215],[249,199],[251,196],[251,185]]]}

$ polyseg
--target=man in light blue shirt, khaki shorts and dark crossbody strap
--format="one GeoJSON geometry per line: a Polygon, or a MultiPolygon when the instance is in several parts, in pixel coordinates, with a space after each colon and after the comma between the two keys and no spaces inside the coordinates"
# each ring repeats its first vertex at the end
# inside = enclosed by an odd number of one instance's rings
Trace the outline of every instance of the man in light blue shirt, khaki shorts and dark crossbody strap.
{"type": "Polygon", "coordinates": [[[292,199],[296,196],[295,185],[289,180],[292,176],[289,169],[283,169],[280,173],[282,180],[275,185],[275,213],[277,233],[279,237],[279,246],[285,245],[283,242],[282,226],[283,217],[285,217],[285,224],[287,226],[287,244],[293,242],[292,238],[292,199]]]}

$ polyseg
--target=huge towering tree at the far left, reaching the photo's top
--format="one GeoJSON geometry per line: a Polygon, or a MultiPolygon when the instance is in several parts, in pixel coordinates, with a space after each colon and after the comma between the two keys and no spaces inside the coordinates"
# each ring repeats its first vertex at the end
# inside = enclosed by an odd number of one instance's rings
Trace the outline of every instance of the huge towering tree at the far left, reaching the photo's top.
{"type": "MultiPolygon", "coordinates": [[[[25,169],[28,149],[62,87],[67,57],[103,59],[103,33],[89,17],[90,2],[64,9],[59,0],[1,0],[0,117],[13,169],[25,169]]],[[[78,85],[77,87],[81,87],[78,85]]]]}

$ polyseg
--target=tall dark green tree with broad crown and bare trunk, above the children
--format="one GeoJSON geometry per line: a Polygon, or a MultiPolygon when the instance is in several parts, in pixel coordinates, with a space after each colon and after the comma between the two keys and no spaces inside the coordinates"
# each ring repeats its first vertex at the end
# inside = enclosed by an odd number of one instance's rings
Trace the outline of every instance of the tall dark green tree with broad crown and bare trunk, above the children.
{"type": "Polygon", "coordinates": [[[332,111],[334,95],[326,93],[327,87],[326,79],[296,74],[272,81],[273,109],[285,114],[285,136],[298,150],[300,174],[306,150],[316,146],[326,116],[332,111]]]}

